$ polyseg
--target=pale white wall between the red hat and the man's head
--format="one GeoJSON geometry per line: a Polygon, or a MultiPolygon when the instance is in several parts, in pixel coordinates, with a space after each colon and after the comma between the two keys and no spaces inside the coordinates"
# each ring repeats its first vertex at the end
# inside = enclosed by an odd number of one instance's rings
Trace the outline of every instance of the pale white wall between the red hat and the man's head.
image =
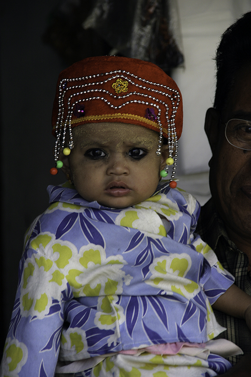
{"type": "Polygon", "coordinates": [[[178,172],[208,170],[210,147],[204,133],[206,109],[215,90],[215,56],[221,34],[243,13],[251,0],[177,0],[185,68],[173,78],[183,96],[184,128],[179,141],[178,172]]]}

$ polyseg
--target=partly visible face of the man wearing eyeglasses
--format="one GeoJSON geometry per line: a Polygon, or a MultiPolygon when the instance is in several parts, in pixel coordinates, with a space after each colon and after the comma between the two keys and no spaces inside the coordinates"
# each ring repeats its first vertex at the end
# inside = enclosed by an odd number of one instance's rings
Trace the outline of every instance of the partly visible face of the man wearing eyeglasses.
{"type": "MultiPolygon", "coordinates": [[[[238,118],[251,120],[251,67],[242,68],[234,82],[221,122],[238,118]]],[[[251,151],[230,145],[220,128],[210,162],[210,188],[228,236],[251,239],[251,151]]],[[[251,147],[251,146],[250,146],[251,147]]]]}

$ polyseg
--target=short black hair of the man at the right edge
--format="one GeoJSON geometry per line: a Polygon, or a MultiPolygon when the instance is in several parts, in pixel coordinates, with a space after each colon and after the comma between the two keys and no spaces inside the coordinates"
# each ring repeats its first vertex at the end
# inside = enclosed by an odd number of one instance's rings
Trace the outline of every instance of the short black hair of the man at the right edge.
{"type": "Polygon", "coordinates": [[[251,12],[226,29],[216,52],[214,108],[222,111],[231,93],[237,71],[251,62],[251,12]]]}

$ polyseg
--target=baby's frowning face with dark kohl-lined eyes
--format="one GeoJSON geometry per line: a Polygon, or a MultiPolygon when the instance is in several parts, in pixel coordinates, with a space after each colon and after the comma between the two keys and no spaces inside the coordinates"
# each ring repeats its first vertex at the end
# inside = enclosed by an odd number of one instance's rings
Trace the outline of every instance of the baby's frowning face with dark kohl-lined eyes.
{"type": "Polygon", "coordinates": [[[73,132],[70,175],[84,199],[125,208],[154,193],[161,160],[165,165],[165,156],[156,155],[156,132],[125,123],[92,123],[73,132]]]}

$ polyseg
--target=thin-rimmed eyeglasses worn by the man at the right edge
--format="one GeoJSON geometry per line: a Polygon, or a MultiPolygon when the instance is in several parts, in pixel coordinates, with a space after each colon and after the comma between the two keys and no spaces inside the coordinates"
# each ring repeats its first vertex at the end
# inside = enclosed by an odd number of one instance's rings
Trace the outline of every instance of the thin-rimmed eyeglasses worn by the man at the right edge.
{"type": "Polygon", "coordinates": [[[225,135],[229,144],[251,151],[251,121],[243,119],[228,120],[225,135]]]}

